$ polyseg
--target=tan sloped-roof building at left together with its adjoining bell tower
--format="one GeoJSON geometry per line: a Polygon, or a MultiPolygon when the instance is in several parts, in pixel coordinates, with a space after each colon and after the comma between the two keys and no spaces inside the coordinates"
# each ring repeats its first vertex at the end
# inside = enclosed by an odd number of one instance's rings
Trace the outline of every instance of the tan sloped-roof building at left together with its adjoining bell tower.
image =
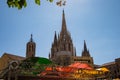
{"type": "MultiPolygon", "coordinates": [[[[26,44],[26,57],[27,58],[35,57],[35,49],[36,49],[36,44],[33,41],[32,34],[31,34],[30,41],[26,44]]],[[[4,68],[6,68],[11,61],[15,61],[15,60],[21,61],[24,59],[25,57],[13,55],[10,53],[4,53],[0,58],[0,70],[3,70],[4,68]]]]}

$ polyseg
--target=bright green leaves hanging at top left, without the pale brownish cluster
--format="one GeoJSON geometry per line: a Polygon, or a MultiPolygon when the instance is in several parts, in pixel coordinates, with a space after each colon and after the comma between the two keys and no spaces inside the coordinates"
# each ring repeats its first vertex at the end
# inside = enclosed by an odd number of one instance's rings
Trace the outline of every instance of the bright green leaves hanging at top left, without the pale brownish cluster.
{"type": "MultiPolygon", "coordinates": [[[[30,0],[31,1],[31,0],[30,0]]],[[[47,0],[49,2],[53,2],[53,0],[47,0]]],[[[41,0],[35,0],[35,3],[37,5],[40,5],[41,0]]],[[[7,0],[7,4],[9,7],[15,7],[18,9],[22,9],[23,7],[27,6],[27,1],[26,0],[7,0]]]]}

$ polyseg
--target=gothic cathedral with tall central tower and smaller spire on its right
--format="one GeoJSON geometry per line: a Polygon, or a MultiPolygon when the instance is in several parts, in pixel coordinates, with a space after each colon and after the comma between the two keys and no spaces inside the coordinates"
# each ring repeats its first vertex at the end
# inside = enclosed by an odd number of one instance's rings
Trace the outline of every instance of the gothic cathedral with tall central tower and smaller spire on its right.
{"type": "Polygon", "coordinates": [[[93,58],[90,56],[85,40],[82,56],[76,55],[76,48],[73,45],[70,32],[67,30],[64,10],[60,35],[58,34],[57,36],[55,31],[49,59],[61,66],[67,66],[74,62],[82,62],[94,66],[93,58]]]}

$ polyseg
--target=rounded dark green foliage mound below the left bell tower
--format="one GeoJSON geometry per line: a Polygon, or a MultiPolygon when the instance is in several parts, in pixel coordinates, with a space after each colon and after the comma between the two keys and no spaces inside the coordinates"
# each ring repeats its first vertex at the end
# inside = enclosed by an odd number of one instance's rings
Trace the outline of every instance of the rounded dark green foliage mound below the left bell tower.
{"type": "Polygon", "coordinates": [[[31,57],[22,61],[19,65],[20,73],[22,75],[37,75],[45,70],[47,66],[51,66],[53,63],[43,57],[31,57]]]}

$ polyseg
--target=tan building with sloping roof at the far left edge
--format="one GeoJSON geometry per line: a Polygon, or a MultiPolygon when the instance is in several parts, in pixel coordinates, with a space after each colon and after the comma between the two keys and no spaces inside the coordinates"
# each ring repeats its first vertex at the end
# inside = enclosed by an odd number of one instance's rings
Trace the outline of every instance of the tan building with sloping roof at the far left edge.
{"type": "Polygon", "coordinates": [[[18,65],[24,59],[25,57],[4,53],[0,58],[0,78],[3,78],[6,76],[6,74],[8,74],[11,65],[14,66],[15,63],[16,66],[16,63],[18,65]]]}

